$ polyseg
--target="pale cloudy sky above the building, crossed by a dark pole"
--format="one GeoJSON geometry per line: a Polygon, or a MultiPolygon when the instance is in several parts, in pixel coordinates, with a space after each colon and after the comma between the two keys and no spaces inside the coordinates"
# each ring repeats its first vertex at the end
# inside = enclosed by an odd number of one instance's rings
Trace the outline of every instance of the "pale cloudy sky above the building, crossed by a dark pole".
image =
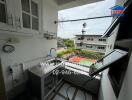
{"type": "MultiPolygon", "coordinates": [[[[111,15],[110,8],[115,5],[115,0],[104,0],[101,2],[86,4],[58,12],[58,20],[72,20],[98,16],[111,15]]],[[[111,24],[112,18],[92,19],[77,22],[65,22],[58,24],[58,37],[74,38],[76,34],[81,34],[82,24],[87,23],[85,34],[103,34],[111,24]]]]}

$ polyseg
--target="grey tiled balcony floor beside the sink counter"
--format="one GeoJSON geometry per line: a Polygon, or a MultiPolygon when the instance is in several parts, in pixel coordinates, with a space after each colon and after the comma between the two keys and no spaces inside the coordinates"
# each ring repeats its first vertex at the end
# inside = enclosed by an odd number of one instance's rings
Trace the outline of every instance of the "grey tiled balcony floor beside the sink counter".
{"type": "Polygon", "coordinates": [[[68,100],[66,90],[70,86],[71,88],[69,88],[68,91],[68,97],[70,100],[93,100],[91,94],[88,94],[87,92],[84,92],[68,83],[64,83],[61,88],[56,91],[54,97],[50,100],[68,100]]]}

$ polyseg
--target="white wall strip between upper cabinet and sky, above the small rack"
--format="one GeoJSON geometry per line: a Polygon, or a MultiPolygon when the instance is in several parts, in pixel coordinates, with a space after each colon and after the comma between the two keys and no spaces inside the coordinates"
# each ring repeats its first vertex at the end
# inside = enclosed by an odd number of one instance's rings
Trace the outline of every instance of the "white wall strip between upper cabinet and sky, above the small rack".
{"type": "Polygon", "coordinates": [[[56,32],[58,24],[54,24],[54,21],[58,20],[58,6],[55,2],[50,0],[43,0],[42,4],[43,12],[43,31],[56,32]]]}

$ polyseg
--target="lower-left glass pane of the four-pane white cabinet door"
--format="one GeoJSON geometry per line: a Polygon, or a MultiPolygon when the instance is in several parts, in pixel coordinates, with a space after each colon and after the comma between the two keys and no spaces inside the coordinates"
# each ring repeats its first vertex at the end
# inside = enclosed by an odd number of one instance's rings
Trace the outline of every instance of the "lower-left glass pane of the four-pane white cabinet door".
{"type": "Polygon", "coordinates": [[[24,28],[30,28],[30,15],[27,15],[25,13],[22,14],[22,18],[23,18],[23,27],[24,28]]]}

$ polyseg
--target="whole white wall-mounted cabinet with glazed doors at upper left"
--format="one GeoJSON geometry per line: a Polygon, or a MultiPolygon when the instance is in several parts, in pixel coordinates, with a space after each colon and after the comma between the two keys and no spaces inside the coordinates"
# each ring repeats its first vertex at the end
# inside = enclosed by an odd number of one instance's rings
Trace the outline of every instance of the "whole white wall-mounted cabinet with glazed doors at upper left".
{"type": "Polygon", "coordinates": [[[18,34],[38,33],[40,18],[41,0],[0,0],[0,29],[18,34]]]}

